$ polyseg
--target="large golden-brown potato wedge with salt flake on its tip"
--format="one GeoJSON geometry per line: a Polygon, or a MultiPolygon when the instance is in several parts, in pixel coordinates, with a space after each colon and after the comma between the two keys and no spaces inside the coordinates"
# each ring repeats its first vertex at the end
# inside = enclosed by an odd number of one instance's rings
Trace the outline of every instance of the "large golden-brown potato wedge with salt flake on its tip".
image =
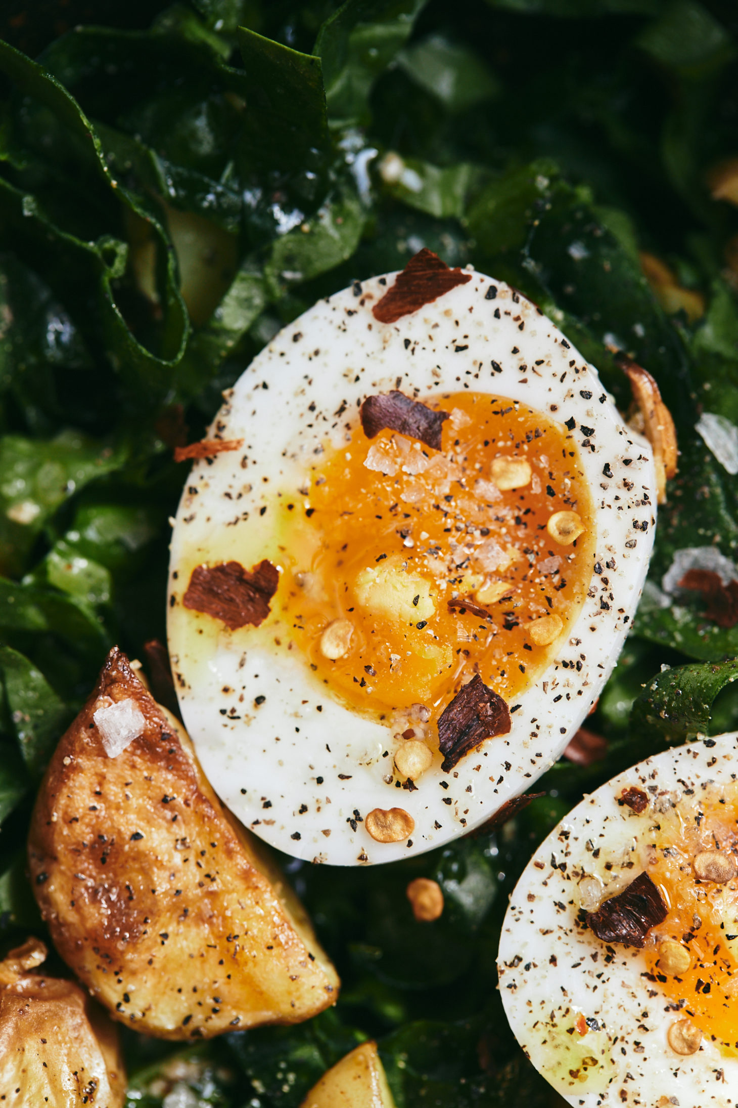
{"type": "Polygon", "coordinates": [[[29,863],[60,954],[141,1032],[298,1023],[336,999],[301,905],[117,648],[49,766],[29,863]]]}

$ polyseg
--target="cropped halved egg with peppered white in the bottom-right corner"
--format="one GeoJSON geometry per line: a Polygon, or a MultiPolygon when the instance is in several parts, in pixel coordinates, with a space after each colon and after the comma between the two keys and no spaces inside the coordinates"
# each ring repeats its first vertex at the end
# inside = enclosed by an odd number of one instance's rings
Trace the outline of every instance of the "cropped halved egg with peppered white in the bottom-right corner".
{"type": "Polygon", "coordinates": [[[738,732],[586,797],[510,899],[500,991],[579,1108],[738,1101],[738,732]]]}

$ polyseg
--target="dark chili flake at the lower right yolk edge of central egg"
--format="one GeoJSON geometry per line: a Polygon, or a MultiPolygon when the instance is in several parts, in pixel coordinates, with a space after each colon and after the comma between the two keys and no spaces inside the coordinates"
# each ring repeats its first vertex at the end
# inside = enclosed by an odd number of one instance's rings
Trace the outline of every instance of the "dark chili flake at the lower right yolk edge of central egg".
{"type": "Polygon", "coordinates": [[[441,770],[456,763],[485,739],[507,735],[512,724],[501,696],[488,688],[479,674],[464,685],[438,719],[438,747],[444,755],[441,770]]]}

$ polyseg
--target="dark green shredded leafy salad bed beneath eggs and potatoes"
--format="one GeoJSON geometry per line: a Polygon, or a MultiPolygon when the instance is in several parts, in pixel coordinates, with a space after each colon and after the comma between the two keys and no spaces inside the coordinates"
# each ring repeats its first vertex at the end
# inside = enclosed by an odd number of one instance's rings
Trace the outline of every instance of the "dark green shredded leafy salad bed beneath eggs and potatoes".
{"type": "Polygon", "coordinates": [[[584,791],[738,727],[738,586],[717,622],[662,588],[678,550],[738,557],[735,6],[74,7],[19,8],[0,42],[0,940],[44,936],[24,841],[51,749],[114,643],[166,640],[173,448],[280,327],[426,246],[533,299],[623,411],[625,351],[674,416],[649,583],[586,722],[605,741],[497,832],[370,870],[284,858],[336,1006],[185,1049],[124,1029],[127,1104],[297,1108],[373,1037],[398,1108],[561,1105],[497,993],[508,895],[584,791]]]}

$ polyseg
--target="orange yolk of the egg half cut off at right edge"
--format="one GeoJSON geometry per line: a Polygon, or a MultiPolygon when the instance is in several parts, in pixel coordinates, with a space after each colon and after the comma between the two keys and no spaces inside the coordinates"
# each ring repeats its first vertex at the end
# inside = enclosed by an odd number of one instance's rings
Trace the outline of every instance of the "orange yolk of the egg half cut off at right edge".
{"type": "Polygon", "coordinates": [[[669,907],[648,936],[648,971],[657,987],[678,1005],[675,1018],[690,1018],[723,1054],[738,1057],[738,881],[697,881],[693,859],[699,851],[738,845],[738,786],[700,797],[689,808],[659,815],[653,829],[647,872],[669,907]],[[655,855],[655,856],[654,856],[655,855]],[[687,971],[666,974],[659,965],[664,940],[692,955],[687,971]]]}

